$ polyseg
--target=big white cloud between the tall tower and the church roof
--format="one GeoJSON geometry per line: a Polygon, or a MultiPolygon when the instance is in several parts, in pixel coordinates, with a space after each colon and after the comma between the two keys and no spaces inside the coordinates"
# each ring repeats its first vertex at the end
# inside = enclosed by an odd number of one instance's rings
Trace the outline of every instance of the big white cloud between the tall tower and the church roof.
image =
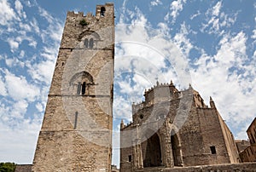
{"type": "Polygon", "coordinates": [[[160,23],[158,29],[148,26],[139,9],[132,15],[131,25],[116,26],[114,118],[131,121],[132,102],[142,101],[144,90],[154,86],[156,80],[170,83],[172,79],[185,88],[189,85],[184,77],[188,63],[182,53],[182,49],[191,49],[185,24],[176,37],[177,43],[170,41],[165,23],[160,23]],[[177,46],[182,42],[188,47],[177,46]]]}

